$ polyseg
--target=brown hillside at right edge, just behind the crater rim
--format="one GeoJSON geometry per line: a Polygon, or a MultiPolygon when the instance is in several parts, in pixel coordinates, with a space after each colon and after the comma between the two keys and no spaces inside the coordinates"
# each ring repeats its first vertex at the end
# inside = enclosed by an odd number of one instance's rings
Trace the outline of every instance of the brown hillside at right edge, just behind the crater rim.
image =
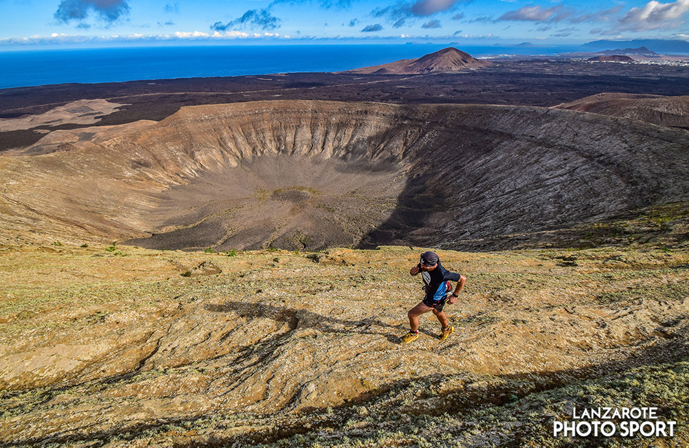
{"type": "Polygon", "coordinates": [[[555,108],[689,128],[689,96],[601,93],[560,104],[555,108]]]}

